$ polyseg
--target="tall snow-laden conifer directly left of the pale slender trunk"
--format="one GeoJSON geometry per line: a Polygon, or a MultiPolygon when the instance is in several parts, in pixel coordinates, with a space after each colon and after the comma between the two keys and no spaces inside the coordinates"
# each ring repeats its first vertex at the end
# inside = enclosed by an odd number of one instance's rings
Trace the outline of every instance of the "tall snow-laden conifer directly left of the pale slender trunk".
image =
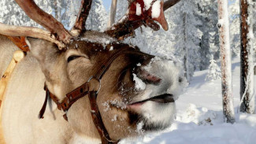
{"type": "Polygon", "coordinates": [[[200,11],[198,18],[202,21],[199,29],[202,31],[200,70],[208,68],[209,61],[213,55],[214,59],[219,59],[219,37],[217,29],[217,1],[216,0],[200,0],[198,2],[198,10],[200,11]]]}

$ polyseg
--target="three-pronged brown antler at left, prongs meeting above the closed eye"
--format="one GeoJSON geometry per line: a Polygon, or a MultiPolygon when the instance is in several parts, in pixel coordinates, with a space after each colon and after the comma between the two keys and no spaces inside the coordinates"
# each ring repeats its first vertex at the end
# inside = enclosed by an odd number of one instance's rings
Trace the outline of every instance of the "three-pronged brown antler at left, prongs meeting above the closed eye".
{"type": "Polygon", "coordinates": [[[64,28],[63,24],[52,17],[50,14],[45,13],[42,9],[35,4],[33,0],[15,0],[17,4],[24,10],[24,12],[32,20],[42,25],[48,31],[40,28],[10,26],[0,23],[0,34],[10,36],[30,36],[38,39],[45,39],[50,42],[56,43],[59,48],[65,47],[71,39],[81,35],[85,31],[85,21],[89,10],[91,9],[92,0],[82,0],[80,13],[76,19],[76,24],[72,31],[64,28]]]}

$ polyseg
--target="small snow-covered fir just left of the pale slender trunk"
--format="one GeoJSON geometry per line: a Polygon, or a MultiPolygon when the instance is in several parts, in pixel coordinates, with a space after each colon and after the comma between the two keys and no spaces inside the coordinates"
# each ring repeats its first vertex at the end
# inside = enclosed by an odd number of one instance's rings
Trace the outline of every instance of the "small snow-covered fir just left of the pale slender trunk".
{"type": "Polygon", "coordinates": [[[221,69],[219,66],[216,64],[216,61],[213,59],[210,60],[210,65],[209,65],[209,70],[206,76],[206,80],[217,80],[221,79],[221,69]]]}

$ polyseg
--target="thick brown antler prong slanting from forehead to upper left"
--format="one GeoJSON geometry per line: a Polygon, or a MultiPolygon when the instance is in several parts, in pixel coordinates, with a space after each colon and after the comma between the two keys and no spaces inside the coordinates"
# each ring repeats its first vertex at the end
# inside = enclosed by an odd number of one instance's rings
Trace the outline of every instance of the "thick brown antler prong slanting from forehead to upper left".
{"type": "Polygon", "coordinates": [[[32,20],[35,20],[38,24],[49,30],[55,35],[57,40],[61,40],[64,43],[69,43],[72,39],[72,35],[67,31],[63,24],[56,20],[53,16],[45,13],[42,9],[35,4],[33,0],[15,0],[17,4],[24,10],[24,12],[32,20]]]}

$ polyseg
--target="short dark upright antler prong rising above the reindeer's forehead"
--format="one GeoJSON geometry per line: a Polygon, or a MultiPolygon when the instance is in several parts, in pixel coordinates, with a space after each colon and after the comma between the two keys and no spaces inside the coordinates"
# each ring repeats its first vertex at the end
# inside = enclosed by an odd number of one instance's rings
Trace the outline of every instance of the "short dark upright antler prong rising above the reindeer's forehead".
{"type": "Polygon", "coordinates": [[[73,35],[79,36],[86,31],[85,24],[86,24],[87,17],[89,15],[89,11],[91,9],[91,2],[92,0],[82,0],[81,6],[80,6],[80,12],[76,18],[76,23],[71,31],[73,35]]]}

